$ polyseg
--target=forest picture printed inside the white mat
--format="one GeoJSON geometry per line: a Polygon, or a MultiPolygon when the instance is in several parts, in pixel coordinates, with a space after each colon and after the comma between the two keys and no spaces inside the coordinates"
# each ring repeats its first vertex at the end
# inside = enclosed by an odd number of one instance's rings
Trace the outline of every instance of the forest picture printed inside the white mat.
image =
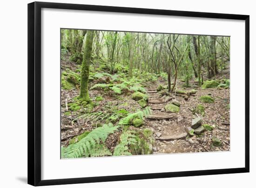
{"type": "Polygon", "coordinates": [[[229,37],[60,35],[61,158],[230,150],[229,37]]]}

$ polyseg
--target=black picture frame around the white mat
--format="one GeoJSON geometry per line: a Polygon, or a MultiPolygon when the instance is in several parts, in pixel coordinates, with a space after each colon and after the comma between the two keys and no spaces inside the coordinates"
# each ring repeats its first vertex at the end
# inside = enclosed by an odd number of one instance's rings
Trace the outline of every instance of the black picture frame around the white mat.
{"type": "Polygon", "coordinates": [[[28,184],[34,186],[60,185],[88,182],[111,182],[195,175],[216,175],[249,172],[249,15],[201,13],[115,6],[95,6],[49,2],[28,4],[28,184]],[[151,174],[112,175],[41,180],[41,8],[102,11],[115,13],[140,13],[151,15],[185,16],[214,19],[236,19],[245,21],[245,164],[243,168],[210,169],[151,174]]]}

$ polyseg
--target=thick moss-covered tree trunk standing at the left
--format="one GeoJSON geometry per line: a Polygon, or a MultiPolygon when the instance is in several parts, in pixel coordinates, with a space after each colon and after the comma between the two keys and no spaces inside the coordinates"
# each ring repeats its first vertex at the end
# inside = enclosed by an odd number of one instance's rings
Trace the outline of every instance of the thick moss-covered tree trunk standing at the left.
{"type": "Polygon", "coordinates": [[[90,101],[88,92],[88,78],[89,78],[89,67],[92,55],[94,31],[87,31],[85,41],[85,51],[83,54],[83,61],[81,66],[81,85],[80,85],[80,100],[90,101]]]}

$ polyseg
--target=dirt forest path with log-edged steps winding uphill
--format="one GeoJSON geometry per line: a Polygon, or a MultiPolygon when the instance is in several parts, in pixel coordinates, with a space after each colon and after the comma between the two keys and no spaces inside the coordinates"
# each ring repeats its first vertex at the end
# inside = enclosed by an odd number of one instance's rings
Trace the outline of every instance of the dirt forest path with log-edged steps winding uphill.
{"type": "Polygon", "coordinates": [[[157,93],[160,84],[164,85],[163,82],[157,81],[147,89],[148,106],[153,110],[153,114],[146,119],[146,126],[155,132],[154,154],[191,152],[191,144],[185,139],[188,122],[184,122],[186,119],[176,113],[165,111],[164,107],[170,101],[161,100],[157,93]]]}

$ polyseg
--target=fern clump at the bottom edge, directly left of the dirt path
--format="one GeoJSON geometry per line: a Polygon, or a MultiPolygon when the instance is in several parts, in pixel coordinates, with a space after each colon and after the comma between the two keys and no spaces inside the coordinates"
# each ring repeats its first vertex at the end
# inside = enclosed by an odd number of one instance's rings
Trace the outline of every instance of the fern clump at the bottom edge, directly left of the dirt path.
{"type": "Polygon", "coordinates": [[[136,136],[132,134],[131,131],[123,132],[120,136],[120,143],[115,147],[113,155],[114,156],[132,155],[129,152],[128,146],[131,144],[137,143],[135,137],[136,136]]]}

